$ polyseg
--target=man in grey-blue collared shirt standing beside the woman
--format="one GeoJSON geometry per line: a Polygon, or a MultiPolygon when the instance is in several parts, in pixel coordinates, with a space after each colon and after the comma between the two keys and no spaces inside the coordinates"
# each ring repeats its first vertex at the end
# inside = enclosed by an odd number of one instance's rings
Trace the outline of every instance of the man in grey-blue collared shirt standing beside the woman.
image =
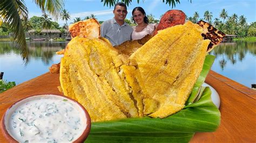
{"type": "Polygon", "coordinates": [[[116,46],[131,40],[132,27],[124,22],[127,15],[127,8],[124,3],[114,5],[113,13],[113,19],[106,20],[100,26],[100,36],[109,39],[112,46],[116,46]]]}

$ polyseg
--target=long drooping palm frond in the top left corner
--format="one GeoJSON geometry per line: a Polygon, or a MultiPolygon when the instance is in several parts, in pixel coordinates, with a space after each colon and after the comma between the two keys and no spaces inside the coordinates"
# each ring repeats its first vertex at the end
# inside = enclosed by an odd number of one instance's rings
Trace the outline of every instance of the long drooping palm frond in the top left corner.
{"type": "Polygon", "coordinates": [[[21,20],[21,18],[28,17],[28,9],[24,1],[2,0],[0,2],[0,10],[0,15],[4,16],[4,22],[10,25],[10,28],[14,31],[14,39],[17,47],[21,48],[23,60],[28,61],[28,47],[21,20]]]}

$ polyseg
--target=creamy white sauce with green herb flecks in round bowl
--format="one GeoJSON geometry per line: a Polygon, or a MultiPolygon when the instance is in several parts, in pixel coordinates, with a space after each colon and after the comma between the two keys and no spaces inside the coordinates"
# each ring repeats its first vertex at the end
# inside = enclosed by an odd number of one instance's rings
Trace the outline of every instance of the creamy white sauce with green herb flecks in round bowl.
{"type": "Polygon", "coordinates": [[[86,128],[82,108],[60,96],[42,97],[27,98],[10,113],[8,132],[19,142],[75,141],[86,128]]]}

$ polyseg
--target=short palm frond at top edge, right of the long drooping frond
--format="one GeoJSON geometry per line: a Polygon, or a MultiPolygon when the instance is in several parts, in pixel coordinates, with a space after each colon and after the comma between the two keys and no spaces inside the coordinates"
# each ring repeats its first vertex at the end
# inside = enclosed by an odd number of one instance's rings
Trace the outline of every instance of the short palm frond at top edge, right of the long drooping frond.
{"type": "Polygon", "coordinates": [[[64,0],[33,0],[43,12],[48,12],[53,18],[58,19],[64,8],[64,0]]]}

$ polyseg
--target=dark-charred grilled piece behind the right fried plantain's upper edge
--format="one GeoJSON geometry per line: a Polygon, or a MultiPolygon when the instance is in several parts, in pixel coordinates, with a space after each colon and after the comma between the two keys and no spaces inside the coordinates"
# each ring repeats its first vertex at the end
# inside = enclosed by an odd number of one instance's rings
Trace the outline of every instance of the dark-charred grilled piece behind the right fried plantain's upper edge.
{"type": "Polygon", "coordinates": [[[203,27],[204,32],[202,36],[204,39],[211,40],[211,43],[207,47],[207,53],[212,51],[212,49],[220,44],[220,42],[225,37],[225,34],[216,28],[214,28],[211,24],[204,22],[203,20],[200,20],[198,23],[201,27],[203,27]]]}

